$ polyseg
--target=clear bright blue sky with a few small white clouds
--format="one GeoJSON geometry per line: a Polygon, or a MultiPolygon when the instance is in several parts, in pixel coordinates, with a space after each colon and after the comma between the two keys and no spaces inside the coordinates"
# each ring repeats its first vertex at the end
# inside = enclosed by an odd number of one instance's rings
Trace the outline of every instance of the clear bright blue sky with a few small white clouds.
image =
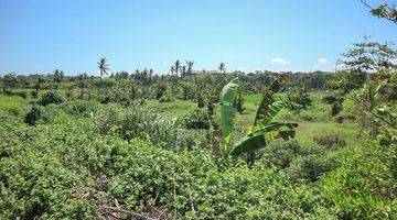
{"type": "MultiPolygon", "coordinates": [[[[379,1],[369,1],[379,2],[379,1]]],[[[330,70],[352,43],[396,42],[358,0],[0,0],[0,74],[330,70]]]]}

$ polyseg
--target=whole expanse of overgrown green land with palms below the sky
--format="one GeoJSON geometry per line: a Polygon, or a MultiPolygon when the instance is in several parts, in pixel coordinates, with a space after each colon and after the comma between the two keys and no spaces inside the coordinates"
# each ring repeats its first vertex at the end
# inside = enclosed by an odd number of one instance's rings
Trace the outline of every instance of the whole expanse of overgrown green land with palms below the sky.
{"type": "Polygon", "coordinates": [[[336,73],[3,75],[0,219],[396,219],[396,56],[364,40],[336,73]]]}

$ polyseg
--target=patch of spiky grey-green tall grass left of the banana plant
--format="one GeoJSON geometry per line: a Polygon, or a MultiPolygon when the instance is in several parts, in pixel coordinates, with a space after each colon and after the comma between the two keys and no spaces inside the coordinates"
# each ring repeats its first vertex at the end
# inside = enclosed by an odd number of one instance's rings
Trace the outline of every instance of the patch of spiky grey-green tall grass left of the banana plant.
{"type": "Polygon", "coordinates": [[[184,132],[179,121],[160,116],[137,106],[127,109],[110,105],[100,109],[94,118],[94,127],[101,134],[116,134],[124,140],[142,139],[165,148],[192,148],[205,143],[206,132],[184,132]]]}

